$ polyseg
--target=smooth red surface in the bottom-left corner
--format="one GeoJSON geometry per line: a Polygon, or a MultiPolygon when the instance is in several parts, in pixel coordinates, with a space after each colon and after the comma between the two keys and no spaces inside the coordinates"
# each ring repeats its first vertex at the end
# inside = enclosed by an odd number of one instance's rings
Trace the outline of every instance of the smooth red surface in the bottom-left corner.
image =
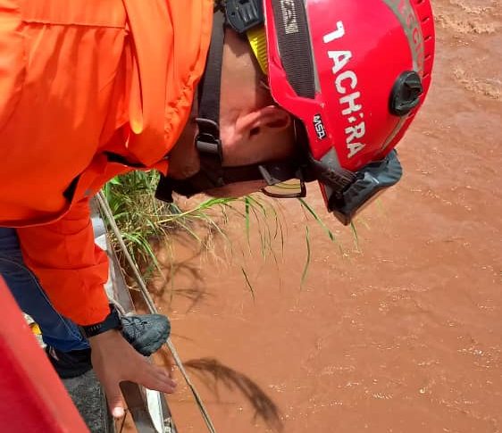
{"type": "Polygon", "coordinates": [[[0,430],[88,432],[0,277],[0,430]]]}

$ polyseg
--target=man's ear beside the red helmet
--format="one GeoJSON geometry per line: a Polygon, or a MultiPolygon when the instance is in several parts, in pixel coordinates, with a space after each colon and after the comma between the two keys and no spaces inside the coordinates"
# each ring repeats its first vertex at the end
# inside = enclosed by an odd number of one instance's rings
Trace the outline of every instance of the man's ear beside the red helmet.
{"type": "Polygon", "coordinates": [[[239,117],[236,122],[236,133],[239,137],[250,139],[264,132],[281,132],[290,125],[289,112],[275,105],[268,105],[239,117]]]}

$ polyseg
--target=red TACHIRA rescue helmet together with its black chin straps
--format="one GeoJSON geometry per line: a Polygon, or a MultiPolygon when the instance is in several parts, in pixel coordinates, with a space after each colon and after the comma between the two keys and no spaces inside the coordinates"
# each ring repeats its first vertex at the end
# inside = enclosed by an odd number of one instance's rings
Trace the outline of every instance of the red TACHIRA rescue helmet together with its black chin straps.
{"type": "Polygon", "coordinates": [[[213,187],[256,176],[276,187],[290,178],[317,179],[328,209],[347,224],[401,177],[393,149],[431,83],[429,0],[226,0],[216,10],[223,18],[215,14],[199,87],[197,148],[207,162],[203,174],[171,182],[171,190],[190,195],[207,189],[207,179],[213,187]],[[254,51],[273,99],[295,118],[300,151],[293,163],[222,169],[216,161],[222,159],[214,107],[220,75],[213,70],[221,63],[219,29],[226,25],[248,36],[264,26],[266,41],[260,46],[255,37],[254,51]]]}

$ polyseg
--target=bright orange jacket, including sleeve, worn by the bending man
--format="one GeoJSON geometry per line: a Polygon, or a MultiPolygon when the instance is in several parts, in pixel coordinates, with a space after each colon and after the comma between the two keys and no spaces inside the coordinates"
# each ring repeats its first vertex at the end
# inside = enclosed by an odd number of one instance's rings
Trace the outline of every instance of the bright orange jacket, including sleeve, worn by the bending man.
{"type": "Polygon", "coordinates": [[[56,309],[108,313],[88,199],[128,162],[167,171],[205,68],[213,0],[0,0],[0,226],[56,309]]]}

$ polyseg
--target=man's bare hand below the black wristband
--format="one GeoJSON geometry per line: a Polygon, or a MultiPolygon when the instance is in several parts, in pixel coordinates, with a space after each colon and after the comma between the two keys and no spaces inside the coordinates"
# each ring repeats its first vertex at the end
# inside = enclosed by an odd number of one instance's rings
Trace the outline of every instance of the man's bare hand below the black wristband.
{"type": "Polygon", "coordinates": [[[121,418],[125,404],[121,396],[121,381],[129,380],[164,393],[174,392],[176,382],[168,371],[151,364],[121,336],[117,330],[109,330],[88,339],[91,361],[96,376],[105,388],[110,412],[121,418]]]}

